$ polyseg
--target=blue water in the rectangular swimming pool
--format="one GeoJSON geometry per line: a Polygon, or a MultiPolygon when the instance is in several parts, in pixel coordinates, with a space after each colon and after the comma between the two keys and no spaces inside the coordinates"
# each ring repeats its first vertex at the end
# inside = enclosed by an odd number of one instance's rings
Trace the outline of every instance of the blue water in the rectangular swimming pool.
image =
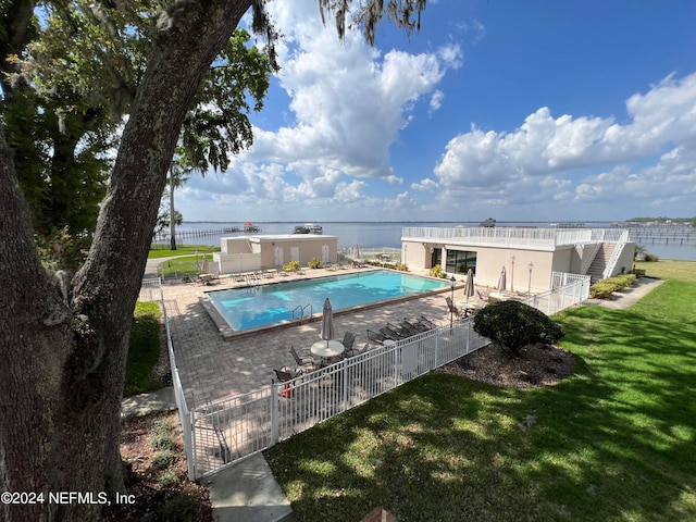
{"type": "Polygon", "coordinates": [[[313,313],[320,313],[326,298],[335,311],[447,287],[446,282],[380,270],[210,291],[208,298],[229,326],[240,331],[290,320],[297,307],[306,307],[308,314],[310,303],[313,313]]]}

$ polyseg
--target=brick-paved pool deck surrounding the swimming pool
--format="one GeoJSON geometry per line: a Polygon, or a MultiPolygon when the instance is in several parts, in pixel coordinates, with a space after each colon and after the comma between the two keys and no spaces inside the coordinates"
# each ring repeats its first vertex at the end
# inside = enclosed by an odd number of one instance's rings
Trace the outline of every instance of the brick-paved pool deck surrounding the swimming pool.
{"type": "MultiPolygon", "coordinates": [[[[364,272],[371,269],[325,269],[306,270],[304,274],[276,276],[263,283],[278,283],[301,278],[364,272]]],[[[426,275],[415,272],[414,275],[426,275]]],[[[225,338],[209,313],[201,298],[210,290],[239,288],[246,286],[221,275],[209,286],[166,284],[164,302],[170,319],[174,356],[179,369],[179,377],[189,409],[220,399],[245,394],[271,384],[275,377],[273,370],[282,366],[295,369],[288,352],[295,346],[300,355],[320,338],[321,314],[311,321],[299,321],[289,326],[264,330],[251,335],[225,338]]],[[[455,300],[463,295],[463,282],[457,283],[455,300]]],[[[387,322],[400,322],[403,318],[425,315],[440,324],[449,322],[445,297],[449,291],[424,297],[415,297],[399,302],[385,302],[370,308],[334,314],[336,339],[340,340],[347,331],[357,337],[355,345],[368,343],[366,330],[381,327],[387,322]]],[[[331,297],[331,296],[327,296],[331,297]]],[[[472,298],[471,300],[475,300],[472,298]]],[[[374,345],[374,341],[372,343],[374,345]]]]}

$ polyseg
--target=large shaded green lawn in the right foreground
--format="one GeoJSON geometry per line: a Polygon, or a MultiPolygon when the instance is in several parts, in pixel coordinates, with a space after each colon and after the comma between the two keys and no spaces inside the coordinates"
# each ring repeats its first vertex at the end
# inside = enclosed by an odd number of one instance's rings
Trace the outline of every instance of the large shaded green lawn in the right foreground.
{"type": "Polygon", "coordinates": [[[696,520],[694,266],[629,310],[556,315],[577,360],[557,386],[433,373],[266,460],[304,522],[376,506],[399,522],[696,520]],[[522,431],[526,415],[538,422],[522,431]]]}

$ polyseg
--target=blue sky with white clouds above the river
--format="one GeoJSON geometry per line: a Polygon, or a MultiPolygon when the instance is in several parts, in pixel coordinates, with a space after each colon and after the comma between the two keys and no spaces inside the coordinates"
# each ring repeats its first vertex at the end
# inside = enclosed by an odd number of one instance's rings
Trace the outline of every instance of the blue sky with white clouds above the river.
{"type": "Polygon", "coordinates": [[[269,9],[253,146],[177,190],[185,222],[696,216],[692,0],[431,0],[374,48],[269,9]]]}

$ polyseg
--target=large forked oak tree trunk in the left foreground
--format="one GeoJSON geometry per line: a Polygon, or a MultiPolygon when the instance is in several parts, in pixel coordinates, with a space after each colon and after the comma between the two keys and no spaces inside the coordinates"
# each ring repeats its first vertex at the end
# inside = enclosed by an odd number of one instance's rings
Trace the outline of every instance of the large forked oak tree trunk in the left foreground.
{"type": "Polygon", "coordinates": [[[49,504],[49,494],[112,500],[123,488],[127,344],[166,171],[203,74],[250,4],[182,1],[160,17],[92,248],[71,288],[41,268],[0,129],[0,484],[45,495],[44,504],[0,504],[2,520],[99,520],[102,506],[49,504]]]}

